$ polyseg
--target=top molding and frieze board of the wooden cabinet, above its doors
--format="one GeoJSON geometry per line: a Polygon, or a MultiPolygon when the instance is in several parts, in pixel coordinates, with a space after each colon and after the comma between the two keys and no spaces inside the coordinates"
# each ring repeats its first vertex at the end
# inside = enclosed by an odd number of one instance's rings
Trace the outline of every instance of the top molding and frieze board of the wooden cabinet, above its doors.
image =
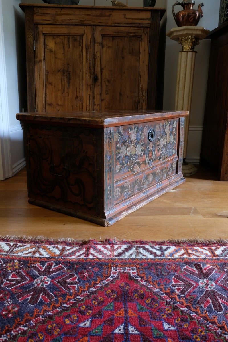
{"type": "Polygon", "coordinates": [[[19,4],[34,24],[150,27],[166,9],[151,7],[19,4]]]}

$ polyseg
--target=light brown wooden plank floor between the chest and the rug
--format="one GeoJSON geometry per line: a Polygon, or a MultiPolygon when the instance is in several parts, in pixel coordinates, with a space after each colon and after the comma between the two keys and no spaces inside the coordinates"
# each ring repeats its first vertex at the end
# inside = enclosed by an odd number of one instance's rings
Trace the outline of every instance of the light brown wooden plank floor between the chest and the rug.
{"type": "Polygon", "coordinates": [[[118,240],[228,239],[228,182],[195,175],[110,227],[28,203],[26,170],[0,181],[0,235],[118,240]]]}

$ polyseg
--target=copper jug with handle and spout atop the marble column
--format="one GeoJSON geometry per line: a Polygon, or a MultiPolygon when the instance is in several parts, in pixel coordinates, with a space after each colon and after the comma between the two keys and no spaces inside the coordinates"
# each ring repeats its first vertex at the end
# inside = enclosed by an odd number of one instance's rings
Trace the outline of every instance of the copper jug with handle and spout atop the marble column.
{"type": "Polygon", "coordinates": [[[172,7],[173,17],[177,26],[196,26],[199,23],[200,18],[203,16],[201,7],[203,3],[199,4],[198,10],[193,10],[192,7],[195,5],[194,0],[184,0],[182,2],[175,2],[172,7]],[[182,11],[175,14],[174,6],[181,5],[182,11]]]}

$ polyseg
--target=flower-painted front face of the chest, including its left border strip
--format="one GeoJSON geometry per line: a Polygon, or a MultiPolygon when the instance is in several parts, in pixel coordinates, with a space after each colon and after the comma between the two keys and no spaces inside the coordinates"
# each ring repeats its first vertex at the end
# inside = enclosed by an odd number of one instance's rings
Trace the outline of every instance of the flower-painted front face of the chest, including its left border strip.
{"type": "Polygon", "coordinates": [[[107,208],[131,206],[136,199],[148,196],[151,189],[158,190],[162,182],[175,177],[179,132],[178,119],[107,130],[107,208]]]}

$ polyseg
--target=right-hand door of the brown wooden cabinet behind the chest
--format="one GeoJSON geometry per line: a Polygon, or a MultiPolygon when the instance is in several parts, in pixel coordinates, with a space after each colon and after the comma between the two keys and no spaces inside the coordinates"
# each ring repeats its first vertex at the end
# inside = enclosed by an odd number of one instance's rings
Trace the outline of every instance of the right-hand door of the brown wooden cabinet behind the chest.
{"type": "Polygon", "coordinates": [[[96,27],[95,109],[146,109],[149,28],[96,27]]]}

